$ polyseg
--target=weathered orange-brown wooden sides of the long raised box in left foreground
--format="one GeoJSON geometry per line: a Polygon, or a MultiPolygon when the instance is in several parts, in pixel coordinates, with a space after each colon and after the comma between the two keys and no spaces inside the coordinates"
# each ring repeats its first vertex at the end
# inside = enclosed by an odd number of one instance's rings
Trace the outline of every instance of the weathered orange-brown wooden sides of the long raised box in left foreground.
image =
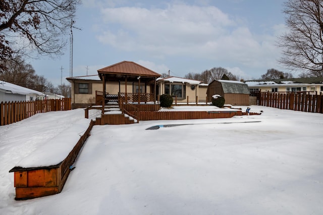
{"type": "Polygon", "coordinates": [[[16,200],[37,198],[60,193],[70,173],[85,140],[90,135],[94,125],[91,121],[88,129],[80,137],[69,155],[58,165],[39,168],[14,167],[9,172],[14,173],[16,200]]]}

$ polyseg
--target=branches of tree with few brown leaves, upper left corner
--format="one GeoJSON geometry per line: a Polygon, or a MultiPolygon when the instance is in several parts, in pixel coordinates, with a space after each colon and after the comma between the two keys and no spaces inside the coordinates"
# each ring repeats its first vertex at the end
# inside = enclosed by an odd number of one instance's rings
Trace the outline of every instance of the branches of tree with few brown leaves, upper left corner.
{"type": "MultiPolygon", "coordinates": [[[[60,55],[78,4],[80,0],[1,0],[0,62],[26,50],[60,55]]],[[[0,63],[0,69],[4,66],[0,63]]]]}

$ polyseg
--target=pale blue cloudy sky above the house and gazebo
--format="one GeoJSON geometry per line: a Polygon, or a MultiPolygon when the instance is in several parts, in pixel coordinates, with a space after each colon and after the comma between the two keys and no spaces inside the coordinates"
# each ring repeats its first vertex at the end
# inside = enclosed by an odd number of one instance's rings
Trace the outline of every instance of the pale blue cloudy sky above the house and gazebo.
{"type": "MultiPolygon", "coordinates": [[[[223,67],[245,80],[267,69],[286,72],[277,36],[285,28],[283,0],[83,0],[73,28],[73,76],[121,61],[184,77],[223,67]]],[[[67,35],[69,40],[69,35],[67,35]]],[[[55,86],[68,83],[70,47],[30,63],[55,86]],[[61,67],[63,70],[61,70],[61,67]]]]}

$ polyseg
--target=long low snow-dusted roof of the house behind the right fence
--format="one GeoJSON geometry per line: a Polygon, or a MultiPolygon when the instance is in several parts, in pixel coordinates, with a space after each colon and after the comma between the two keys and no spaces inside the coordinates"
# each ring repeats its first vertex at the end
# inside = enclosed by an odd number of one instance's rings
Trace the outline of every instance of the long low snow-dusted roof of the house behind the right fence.
{"type": "Polygon", "coordinates": [[[250,80],[250,81],[244,81],[244,82],[249,86],[260,85],[260,84],[321,84],[323,83],[323,77],[262,79],[262,80],[250,80]]]}

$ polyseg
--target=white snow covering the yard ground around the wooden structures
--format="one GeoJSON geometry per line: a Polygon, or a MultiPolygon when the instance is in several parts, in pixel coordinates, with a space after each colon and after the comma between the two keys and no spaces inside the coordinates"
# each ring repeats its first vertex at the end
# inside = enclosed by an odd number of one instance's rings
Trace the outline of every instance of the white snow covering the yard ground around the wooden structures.
{"type": "Polygon", "coordinates": [[[1,126],[0,214],[323,214],[323,115],[259,111],[94,126],[63,191],[24,201],[9,170],[84,111],[1,126]],[[193,125],[146,130],[169,124],[193,125]]]}

